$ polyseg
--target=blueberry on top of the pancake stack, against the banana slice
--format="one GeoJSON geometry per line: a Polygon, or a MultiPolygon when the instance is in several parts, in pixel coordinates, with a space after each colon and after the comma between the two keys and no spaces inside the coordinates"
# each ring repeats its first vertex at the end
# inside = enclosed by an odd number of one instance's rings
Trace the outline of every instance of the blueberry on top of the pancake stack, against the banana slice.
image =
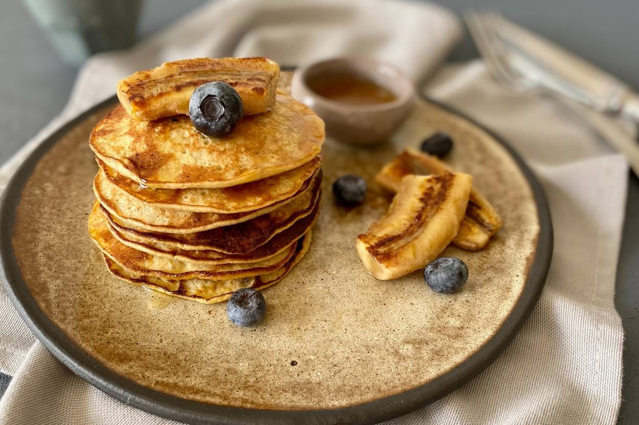
{"type": "Polygon", "coordinates": [[[226,136],[242,115],[242,99],[226,83],[202,84],[191,94],[189,116],[197,131],[207,136],[226,136]]]}

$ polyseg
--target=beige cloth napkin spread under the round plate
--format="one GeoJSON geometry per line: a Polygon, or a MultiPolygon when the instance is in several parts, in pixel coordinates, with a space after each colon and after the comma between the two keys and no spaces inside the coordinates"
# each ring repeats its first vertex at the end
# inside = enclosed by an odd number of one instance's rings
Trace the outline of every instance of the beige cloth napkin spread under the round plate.
{"type": "MultiPolygon", "coordinates": [[[[42,138],[118,78],[165,60],[265,55],[282,64],[335,54],[380,57],[415,80],[440,63],[458,21],[428,3],[220,1],[128,52],[82,69],[61,117],[0,169],[0,184],[42,138]],[[243,13],[224,13],[238,8],[243,13]],[[389,19],[392,17],[392,19],[389,19]]],[[[539,175],[555,225],[548,283],[530,320],[470,384],[392,424],[613,424],[620,401],[622,327],[613,306],[627,166],[580,120],[498,87],[484,66],[447,66],[427,93],[502,134],[539,175]]],[[[515,207],[515,206],[514,206],[515,207]]],[[[0,294],[0,370],[13,375],[0,424],[174,424],[119,403],[37,343],[0,294]]]]}

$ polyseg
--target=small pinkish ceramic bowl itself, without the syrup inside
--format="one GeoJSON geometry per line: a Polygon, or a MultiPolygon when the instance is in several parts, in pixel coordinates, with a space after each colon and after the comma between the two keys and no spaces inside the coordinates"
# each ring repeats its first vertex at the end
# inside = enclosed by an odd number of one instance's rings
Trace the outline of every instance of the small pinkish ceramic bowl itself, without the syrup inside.
{"type": "Polygon", "coordinates": [[[413,106],[413,84],[402,71],[381,61],[356,57],[328,59],[298,68],[291,82],[291,94],[324,120],[329,135],[360,145],[386,140],[413,106]],[[321,96],[311,88],[318,78],[336,73],[352,73],[372,81],[390,91],[395,99],[353,105],[321,96]]]}

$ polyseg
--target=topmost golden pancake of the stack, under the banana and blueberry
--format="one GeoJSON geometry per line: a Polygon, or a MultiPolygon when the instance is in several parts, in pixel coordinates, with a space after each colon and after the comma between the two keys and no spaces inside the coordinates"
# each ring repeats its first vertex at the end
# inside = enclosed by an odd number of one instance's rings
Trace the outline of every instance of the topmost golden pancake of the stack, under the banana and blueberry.
{"type": "Polygon", "coordinates": [[[199,133],[188,116],[136,121],[118,106],[89,138],[118,174],[150,188],[224,188],[280,174],[318,156],[324,123],[277,95],[267,114],[245,116],[226,137],[199,133]]]}

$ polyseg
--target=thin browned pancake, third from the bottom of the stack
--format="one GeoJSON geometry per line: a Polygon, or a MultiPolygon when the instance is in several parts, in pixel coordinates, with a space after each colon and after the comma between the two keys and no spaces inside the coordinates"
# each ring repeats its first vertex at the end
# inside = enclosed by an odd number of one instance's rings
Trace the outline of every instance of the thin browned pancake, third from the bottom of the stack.
{"type": "Polygon", "coordinates": [[[109,230],[111,230],[111,233],[114,235],[114,237],[116,237],[116,239],[118,239],[118,241],[129,246],[130,248],[134,248],[138,251],[144,251],[158,257],[173,258],[175,260],[191,263],[202,262],[205,264],[245,263],[265,260],[266,258],[272,257],[273,255],[280,253],[282,250],[285,250],[293,241],[296,241],[297,239],[302,237],[302,235],[304,235],[312,227],[312,225],[314,225],[315,221],[317,220],[318,213],[319,200],[316,201],[315,207],[312,210],[311,214],[295,221],[295,224],[293,224],[291,227],[282,232],[279,232],[272,239],[270,239],[270,241],[259,246],[258,248],[252,251],[238,254],[227,254],[213,250],[189,251],[180,250],[179,248],[169,248],[169,250],[161,250],[161,243],[144,244],[139,241],[140,238],[135,238],[135,236],[132,239],[137,239],[137,241],[130,240],[128,239],[130,232],[121,232],[114,228],[111,223],[109,223],[109,230]]]}

